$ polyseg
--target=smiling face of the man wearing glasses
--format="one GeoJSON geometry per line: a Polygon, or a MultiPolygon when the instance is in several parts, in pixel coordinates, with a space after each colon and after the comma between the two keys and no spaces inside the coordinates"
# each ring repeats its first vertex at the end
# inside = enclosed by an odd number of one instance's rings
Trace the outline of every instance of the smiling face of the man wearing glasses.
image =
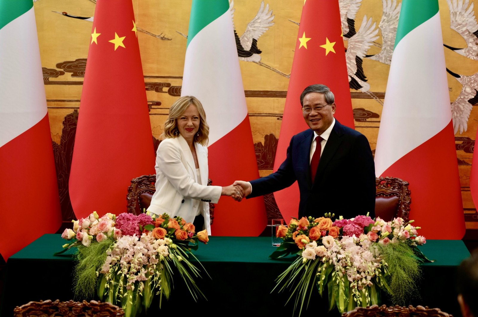
{"type": "MultiPolygon", "coordinates": [[[[308,93],[304,96],[303,107],[324,106],[327,104],[324,94],[308,93]]],[[[303,113],[304,120],[307,125],[314,130],[319,136],[330,127],[334,121],[335,103],[325,106],[320,112],[314,109],[310,113],[303,113]]]]}

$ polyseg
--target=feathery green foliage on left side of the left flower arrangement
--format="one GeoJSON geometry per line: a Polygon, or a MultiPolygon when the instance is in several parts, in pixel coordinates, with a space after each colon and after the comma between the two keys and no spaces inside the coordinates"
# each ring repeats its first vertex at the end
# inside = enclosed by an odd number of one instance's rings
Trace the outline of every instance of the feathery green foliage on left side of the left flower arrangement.
{"type": "Polygon", "coordinates": [[[110,237],[89,246],[78,245],[74,270],[74,292],[76,300],[92,299],[97,285],[97,272],[105,263],[106,250],[114,242],[110,237]]]}

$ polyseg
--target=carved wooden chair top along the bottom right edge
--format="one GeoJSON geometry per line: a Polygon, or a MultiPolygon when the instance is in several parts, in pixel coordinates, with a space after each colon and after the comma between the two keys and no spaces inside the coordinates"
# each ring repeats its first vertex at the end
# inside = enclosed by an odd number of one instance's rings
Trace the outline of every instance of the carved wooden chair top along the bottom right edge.
{"type": "Polygon", "coordinates": [[[342,317],[452,317],[439,308],[428,308],[427,306],[378,306],[356,307],[342,317]]]}

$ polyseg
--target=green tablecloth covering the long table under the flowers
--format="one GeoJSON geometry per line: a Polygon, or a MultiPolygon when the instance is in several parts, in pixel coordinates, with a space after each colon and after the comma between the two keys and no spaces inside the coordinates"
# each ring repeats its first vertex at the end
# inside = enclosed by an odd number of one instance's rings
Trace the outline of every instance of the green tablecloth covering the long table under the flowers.
{"type": "MultiPolygon", "coordinates": [[[[1,316],[11,316],[13,307],[31,300],[73,298],[73,250],[53,256],[64,243],[59,234],[45,234],[10,257],[1,316]]],[[[421,249],[436,262],[423,264],[423,279],[419,284],[422,299],[413,300],[411,304],[440,307],[460,316],[454,274],[456,266],[469,256],[467,248],[462,241],[429,240],[421,249]]],[[[268,255],[274,250],[270,237],[210,237],[209,243],[200,245],[195,252],[212,278],[204,274],[197,281],[208,300],[200,299],[195,303],[180,276],[176,276],[170,300],[163,303],[161,313],[177,310],[187,303],[188,311],[195,314],[204,311],[222,315],[234,311],[267,316],[272,311],[281,311],[281,314],[292,316],[293,305],[283,306],[287,294],[271,294],[271,290],[275,278],[287,268],[293,257],[269,259],[268,255]]],[[[318,311],[326,312],[326,301],[316,293],[303,316],[317,315],[318,311]]],[[[333,314],[338,315],[338,312],[333,314]]]]}

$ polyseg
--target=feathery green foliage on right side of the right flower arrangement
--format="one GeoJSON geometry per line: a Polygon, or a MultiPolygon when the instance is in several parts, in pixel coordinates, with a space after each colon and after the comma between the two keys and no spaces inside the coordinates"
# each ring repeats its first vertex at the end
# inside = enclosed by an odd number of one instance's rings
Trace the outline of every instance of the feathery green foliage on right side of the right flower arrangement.
{"type": "Polygon", "coordinates": [[[420,279],[420,265],[409,243],[388,243],[386,246],[376,243],[380,257],[388,264],[388,274],[384,276],[387,291],[393,305],[408,305],[410,298],[418,294],[417,283],[420,279]]]}

